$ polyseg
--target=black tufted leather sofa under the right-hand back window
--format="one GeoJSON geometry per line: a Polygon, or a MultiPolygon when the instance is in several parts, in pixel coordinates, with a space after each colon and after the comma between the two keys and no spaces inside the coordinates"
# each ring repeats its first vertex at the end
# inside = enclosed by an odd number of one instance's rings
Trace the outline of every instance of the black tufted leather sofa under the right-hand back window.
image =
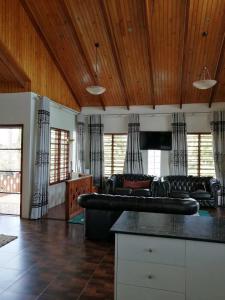
{"type": "Polygon", "coordinates": [[[220,182],[213,177],[165,176],[161,179],[161,195],[193,198],[201,207],[217,207],[220,182]]]}

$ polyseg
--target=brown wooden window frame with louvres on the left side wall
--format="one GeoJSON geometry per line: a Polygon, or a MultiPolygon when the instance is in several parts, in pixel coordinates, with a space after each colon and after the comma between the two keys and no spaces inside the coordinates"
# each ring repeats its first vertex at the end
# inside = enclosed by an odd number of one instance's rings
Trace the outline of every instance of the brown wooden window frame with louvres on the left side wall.
{"type": "Polygon", "coordinates": [[[69,149],[70,149],[69,139],[70,139],[70,131],[69,130],[56,128],[56,127],[51,127],[50,128],[49,185],[54,185],[54,184],[58,184],[58,183],[61,183],[61,182],[65,182],[66,180],[69,179],[69,149]],[[60,174],[61,174],[61,172],[60,172],[60,170],[61,170],[61,168],[60,168],[60,165],[61,165],[61,163],[60,163],[60,161],[61,161],[61,143],[58,143],[57,146],[58,146],[59,156],[58,156],[58,159],[57,159],[57,161],[58,161],[57,163],[58,163],[59,172],[58,172],[57,180],[54,181],[54,182],[51,182],[51,180],[50,180],[51,179],[51,174],[50,174],[50,172],[51,172],[51,145],[53,144],[52,141],[51,141],[51,131],[52,130],[55,130],[55,131],[60,133],[59,141],[61,141],[61,132],[66,132],[67,137],[68,137],[67,151],[66,151],[66,160],[67,160],[67,167],[66,167],[67,172],[66,173],[67,173],[67,176],[64,179],[60,179],[60,174]]]}

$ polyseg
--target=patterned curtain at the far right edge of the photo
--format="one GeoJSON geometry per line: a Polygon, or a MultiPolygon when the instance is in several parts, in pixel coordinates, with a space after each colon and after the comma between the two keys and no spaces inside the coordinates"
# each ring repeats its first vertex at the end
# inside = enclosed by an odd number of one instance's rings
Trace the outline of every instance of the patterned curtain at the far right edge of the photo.
{"type": "Polygon", "coordinates": [[[212,113],[211,131],[216,178],[221,183],[220,205],[225,207],[225,111],[212,113]]]}

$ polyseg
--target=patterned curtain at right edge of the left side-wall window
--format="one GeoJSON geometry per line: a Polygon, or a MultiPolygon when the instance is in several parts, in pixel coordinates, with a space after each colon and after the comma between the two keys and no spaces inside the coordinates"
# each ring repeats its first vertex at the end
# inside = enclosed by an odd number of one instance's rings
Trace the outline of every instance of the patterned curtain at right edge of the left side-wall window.
{"type": "Polygon", "coordinates": [[[85,120],[83,116],[76,118],[76,166],[77,173],[85,172],[85,120]]]}

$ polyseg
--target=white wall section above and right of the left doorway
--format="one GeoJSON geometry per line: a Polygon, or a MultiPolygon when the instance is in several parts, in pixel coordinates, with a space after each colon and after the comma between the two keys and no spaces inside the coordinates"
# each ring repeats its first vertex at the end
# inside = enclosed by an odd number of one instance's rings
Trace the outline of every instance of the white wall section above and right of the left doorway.
{"type": "Polygon", "coordinates": [[[22,217],[28,218],[32,187],[35,101],[31,93],[0,94],[0,124],[23,125],[22,217]]]}

